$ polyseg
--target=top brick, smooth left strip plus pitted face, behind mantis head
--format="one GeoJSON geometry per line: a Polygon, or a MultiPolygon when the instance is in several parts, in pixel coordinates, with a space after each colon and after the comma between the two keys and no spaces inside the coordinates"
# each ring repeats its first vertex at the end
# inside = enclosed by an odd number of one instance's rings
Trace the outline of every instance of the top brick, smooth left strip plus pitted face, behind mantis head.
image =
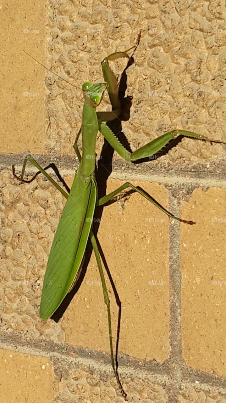
{"type": "MultiPolygon", "coordinates": [[[[45,147],[53,154],[72,154],[81,121],[82,94],[47,73],[45,83],[51,92],[43,128],[41,99],[46,71],[22,52],[24,49],[43,62],[44,11],[39,4],[37,17],[31,19],[31,8],[32,2],[25,10],[14,10],[10,5],[4,12],[7,35],[13,38],[6,41],[4,54],[4,151],[43,152],[45,147]],[[8,29],[12,13],[16,14],[15,26],[8,29]],[[39,32],[24,33],[23,29],[39,32]],[[22,96],[26,91],[40,95],[22,96]]],[[[133,102],[123,129],[131,147],[175,128],[222,139],[226,94],[224,17],[223,5],[208,7],[204,1],[53,1],[48,13],[45,64],[79,88],[87,80],[103,81],[101,60],[115,50],[134,46],[141,31],[140,46],[134,55],[136,64],[127,71],[126,95],[132,96],[133,102]]],[[[113,68],[120,74],[125,65],[125,60],[120,60],[113,68]]],[[[98,149],[101,142],[100,139],[98,149]]],[[[185,139],[166,158],[197,162],[223,154],[221,145],[210,148],[200,141],[185,139]]]]}

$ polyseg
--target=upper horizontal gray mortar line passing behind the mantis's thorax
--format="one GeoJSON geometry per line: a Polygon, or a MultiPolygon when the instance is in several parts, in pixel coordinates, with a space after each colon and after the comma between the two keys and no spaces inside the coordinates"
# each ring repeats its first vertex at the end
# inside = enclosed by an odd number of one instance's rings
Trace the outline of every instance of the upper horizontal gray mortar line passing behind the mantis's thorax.
{"type": "MultiPolygon", "coordinates": [[[[50,157],[34,155],[40,165],[45,166],[53,162],[58,166],[62,176],[74,176],[78,168],[78,160],[72,156],[50,157]]],[[[12,164],[16,164],[17,170],[22,167],[24,155],[0,153],[0,169],[12,169],[12,164]]],[[[37,172],[31,164],[27,165],[26,172],[34,174],[37,172]]],[[[49,170],[51,172],[51,170],[49,170]]],[[[213,162],[210,164],[167,164],[162,163],[142,163],[132,164],[124,160],[113,160],[113,171],[110,175],[113,179],[139,180],[158,182],[164,185],[189,185],[207,187],[226,187],[226,160],[213,162]]]]}

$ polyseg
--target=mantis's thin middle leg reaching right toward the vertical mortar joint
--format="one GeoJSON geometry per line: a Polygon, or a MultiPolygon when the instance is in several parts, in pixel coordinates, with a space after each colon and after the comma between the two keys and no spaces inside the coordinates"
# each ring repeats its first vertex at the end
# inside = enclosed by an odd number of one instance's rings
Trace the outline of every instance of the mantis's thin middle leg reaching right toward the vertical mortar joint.
{"type": "MultiPolygon", "coordinates": [[[[195,222],[193,222],[193,221],[182,220],[182,218],[174,216],[173,214],[168,212],[164,207],[162,207],[158,202],[156,202],[156,200],[154,200],[151,196],[149,196],[148,193],[146,193],[143,189],[141,189],[139,186],[131,185],[131,183],[129,183],[129,182],[124,183],[124,185],[120,186],[119,188],[117,188],[115,191],[109,193],[108,195],[101,197],[101,199],[97,200],[97,206],[102,206],[103,204],[106,204],[107,202],[109,202],[111,200],[115,200],[115,196],[117,194],[121,193],[122,191],[124,191],[125,189],[127,189],[128,187],[131,187],[135,192],[140,193],[140,195],[142,195],[149,202],[154,204],[154,206],[158,207],[165,214],[167,214],[168,217],[175,218],[175,220],[184,222],[185,224],[190,224],[190,225],[195,224],[195,222]]],[[[125,195],[124,196],[122,195],[122,197],[125,197],[125,195]]]]}

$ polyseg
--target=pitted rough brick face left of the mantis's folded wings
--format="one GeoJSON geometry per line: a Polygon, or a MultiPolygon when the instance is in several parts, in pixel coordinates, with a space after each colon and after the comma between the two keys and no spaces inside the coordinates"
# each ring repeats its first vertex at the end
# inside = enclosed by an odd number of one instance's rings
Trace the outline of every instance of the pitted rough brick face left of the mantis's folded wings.
{"type": "Polygon", "coordinates": [[[1,318],[6,328],[32,337],[63,337],[60,324],[39,318],[41,283],[48,254],[63,209],[63,197],[43,178],[20,185],[11,172],[1,171],[0,276],[4,298],[1,318]]]}

